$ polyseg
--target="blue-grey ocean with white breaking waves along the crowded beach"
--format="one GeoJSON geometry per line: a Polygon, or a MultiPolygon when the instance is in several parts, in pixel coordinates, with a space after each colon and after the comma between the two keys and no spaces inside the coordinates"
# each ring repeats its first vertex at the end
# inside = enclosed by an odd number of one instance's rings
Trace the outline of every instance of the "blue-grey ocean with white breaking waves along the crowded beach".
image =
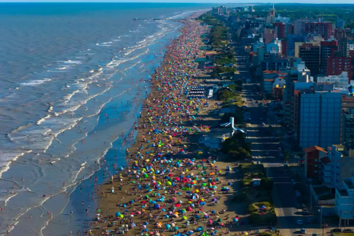
{"type": "Polygon", "coordinates": [[[179,34],[173,19],[212,6],[0,3],[1,234],[89,227],[99,160],[124,165],[122,133],[179,34]]]}

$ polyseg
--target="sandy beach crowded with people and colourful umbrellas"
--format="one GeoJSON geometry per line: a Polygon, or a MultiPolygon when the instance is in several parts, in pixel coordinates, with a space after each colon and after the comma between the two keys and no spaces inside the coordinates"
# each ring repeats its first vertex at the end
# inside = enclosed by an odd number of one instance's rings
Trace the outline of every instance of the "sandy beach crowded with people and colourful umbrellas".
{"type": "Polygon", "coordinates": [[[234,191],[234,167],[217,156],[186,155],[190,134],[209,131],[199,115],[215,109],[215,101],[185,96],[188,86],[198,86],[194,59],[203,53],[200,35],[207,27],[184,23],[152,76],[135,132],[124,141],[132,144],[125,150],[127,166],[107,167],[108,181],[95,189],[96,219],[85,235],[228,235],[238,224],[225,205],[234,191]]]}

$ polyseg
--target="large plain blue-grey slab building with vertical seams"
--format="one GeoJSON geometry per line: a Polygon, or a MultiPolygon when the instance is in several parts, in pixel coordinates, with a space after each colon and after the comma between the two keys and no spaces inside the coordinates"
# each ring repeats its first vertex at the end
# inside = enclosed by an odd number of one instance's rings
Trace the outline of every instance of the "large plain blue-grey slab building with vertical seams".
{"type": "Polygon", "coordinates": [[[327,147],[341,140],[341,92],[299,94],[297,138],[301,148],[327,147]]]}

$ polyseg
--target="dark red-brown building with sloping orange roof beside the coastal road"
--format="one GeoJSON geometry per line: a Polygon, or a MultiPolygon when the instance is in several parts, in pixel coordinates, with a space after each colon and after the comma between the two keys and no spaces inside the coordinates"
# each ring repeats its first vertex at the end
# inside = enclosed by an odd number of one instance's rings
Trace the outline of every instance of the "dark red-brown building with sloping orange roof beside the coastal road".
{"type": "Polygon", "coordinates": [[[327,156],[327,151],[319,146],[305,148],[304,165],[306,178],[318,179],[320,175],[320,160],[327,156]]]}

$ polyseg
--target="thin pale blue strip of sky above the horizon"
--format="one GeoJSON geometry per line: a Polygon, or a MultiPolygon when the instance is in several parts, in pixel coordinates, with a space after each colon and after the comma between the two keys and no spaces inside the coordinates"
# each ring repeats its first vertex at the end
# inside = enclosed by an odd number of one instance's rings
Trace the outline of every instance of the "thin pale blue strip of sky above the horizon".
{"type": "Polygon", "coordinates": [[[187,2],[187,3],[328,3],[328,4],[353,4],[353,0],[0,0],[0,2],[187,2]]]}

